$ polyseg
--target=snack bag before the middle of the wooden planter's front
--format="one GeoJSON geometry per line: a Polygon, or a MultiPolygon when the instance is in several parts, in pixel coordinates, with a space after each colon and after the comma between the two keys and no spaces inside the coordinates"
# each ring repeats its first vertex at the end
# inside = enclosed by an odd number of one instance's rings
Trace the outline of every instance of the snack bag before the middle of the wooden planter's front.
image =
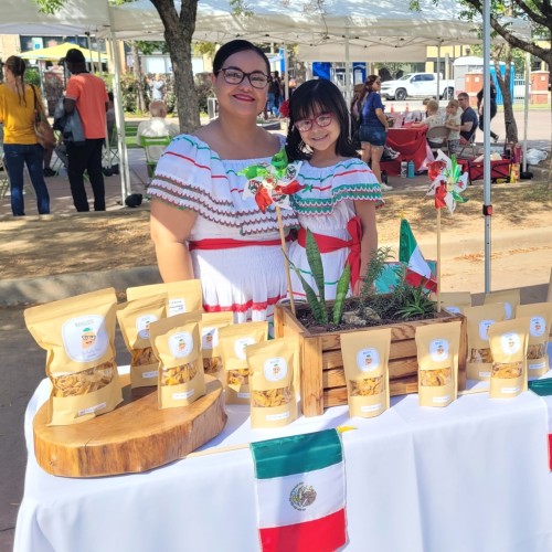
{"type": "Polygon", "coordinates": [[[341,354],[351,416],[379,416],[389,408],[391,328],[341,335],[341,354]]]}

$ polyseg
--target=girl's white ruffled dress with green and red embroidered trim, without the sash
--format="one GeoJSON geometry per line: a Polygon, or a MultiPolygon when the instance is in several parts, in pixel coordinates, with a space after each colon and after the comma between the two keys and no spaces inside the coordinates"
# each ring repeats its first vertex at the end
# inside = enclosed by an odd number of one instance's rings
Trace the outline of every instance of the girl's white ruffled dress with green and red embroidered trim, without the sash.
{"type": "MultiPolygon", "coordinates": [[[[325,168],[312,167],[304,161],[297,180],[305,188],[290,197],[291,206],[299,224],[314,234],[350,241],[347,224],[355,216],[353,201],[373,201],[376,208],[383,205],[380,183],[368,164],[360,159],[346,159],[325,168]]],[[[343,247],[321,253],[327,300],[336,298],[337,284],[350,251],[350,247],[343,247]]],[[[298,242],[293,242],[289,246],[289,259],[317,291],[307,253],[298,242]]],[[[305,300],[305,290],[295,270],[291,270],[291,288],[295,299],[305,300]]]]}

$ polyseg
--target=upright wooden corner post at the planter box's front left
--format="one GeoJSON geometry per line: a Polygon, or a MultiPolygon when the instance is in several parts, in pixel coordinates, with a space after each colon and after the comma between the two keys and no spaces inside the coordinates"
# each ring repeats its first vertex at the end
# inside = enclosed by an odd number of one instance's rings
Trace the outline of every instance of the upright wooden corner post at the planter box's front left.
{"type": "Polygon", "coordinates": [[[301,410],[305,416],[323,414],[322,403],[322,351],[318,338],[300,339],[301,358],[301,410]]]}

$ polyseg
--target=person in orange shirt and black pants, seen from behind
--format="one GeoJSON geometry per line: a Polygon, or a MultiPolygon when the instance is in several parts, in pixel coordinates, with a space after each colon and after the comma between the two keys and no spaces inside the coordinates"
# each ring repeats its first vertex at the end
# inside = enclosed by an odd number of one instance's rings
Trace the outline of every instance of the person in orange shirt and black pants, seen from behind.
{"type": "Polygon", "coordinates": [[[84,188],[84,171],[94,193],[94,211],[105,211],[105,187],[102,172],[102,148],[106,135],[106,112],[109,103],[104,81],[86,71],[86,61],[77,49],[67,50],[65,64],[73,75],[65,91],[66,113],[78,112],[85,142],[67,142],[68,180],[77,211],[89,211],[84,188]]]}

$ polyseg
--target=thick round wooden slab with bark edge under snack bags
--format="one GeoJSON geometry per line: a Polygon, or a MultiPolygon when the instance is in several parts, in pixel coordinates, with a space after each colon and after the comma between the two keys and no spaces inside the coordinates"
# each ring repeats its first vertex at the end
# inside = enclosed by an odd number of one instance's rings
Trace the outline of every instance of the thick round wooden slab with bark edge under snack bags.
{"type": "Polygon", "coordinates": [[[205,382],[205,396],[190,406],[159,410],[157,388],[131,391],[128,375],[121,375],[124,402],[82,424],[47,426],[44,403],[33,421],[36,461],[54,476],[98,477],[183,458],[226,424],[222,385],[211,376],[205,382]]]}

